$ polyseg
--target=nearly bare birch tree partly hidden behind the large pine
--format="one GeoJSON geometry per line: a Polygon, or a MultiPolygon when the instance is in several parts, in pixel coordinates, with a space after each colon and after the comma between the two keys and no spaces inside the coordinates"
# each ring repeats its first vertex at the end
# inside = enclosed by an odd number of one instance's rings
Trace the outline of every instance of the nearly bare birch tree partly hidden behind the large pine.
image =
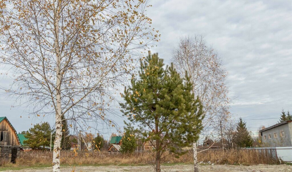
{"type": "MultiPolygon", "coordinates": [[[[187,71],[194,83],[194,94],[198,95],[205,112],[202,122],[204,129],[201,138],[212,135],[220,127],[220,121],[226,120],[229,114],[229,102],[226,86],[227,72],[221,58],[215,50],[206,44],[200,35],[181,37],[173,49],[172,61],[183,76],[187,71]]],[[[197,165],[197,143],[193,143],[194,171],[197,165]]]]}

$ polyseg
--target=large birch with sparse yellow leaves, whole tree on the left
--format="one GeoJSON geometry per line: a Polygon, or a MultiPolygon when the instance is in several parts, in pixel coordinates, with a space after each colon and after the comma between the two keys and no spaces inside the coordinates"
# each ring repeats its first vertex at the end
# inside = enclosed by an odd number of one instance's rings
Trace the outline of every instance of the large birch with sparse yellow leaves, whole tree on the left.
{"type": "Polygon", "coordinates": [[[144,0],[1,0],[0,58],[14,79],[1,87],[36,117],[55,120],[60,171],[62,115],[71,128],[107,116],[114,90],[159,35],[144,0]]]}

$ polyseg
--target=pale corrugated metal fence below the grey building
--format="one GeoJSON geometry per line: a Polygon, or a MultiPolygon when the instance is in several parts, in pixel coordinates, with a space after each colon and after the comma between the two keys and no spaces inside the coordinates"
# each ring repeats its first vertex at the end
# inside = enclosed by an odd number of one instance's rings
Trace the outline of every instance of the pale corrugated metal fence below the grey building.
{"type": "Polygon", "coordinates": [[[281,161],[292,162],[292,147],[250,147],[245,149],[257,150],[263,154],[269,154],[273,158],[281,159],[281,161]]]}

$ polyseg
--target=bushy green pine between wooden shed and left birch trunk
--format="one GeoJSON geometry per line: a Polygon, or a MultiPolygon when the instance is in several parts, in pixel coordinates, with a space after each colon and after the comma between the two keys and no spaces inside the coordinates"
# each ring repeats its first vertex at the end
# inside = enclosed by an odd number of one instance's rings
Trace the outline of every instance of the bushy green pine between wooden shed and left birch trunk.
{"type": "Polygon", "coordinates": [[[46,146],[50,147],[51,139],[51,126],[48,122],[34,125],[33,128],[29,128],[29,131],[25,133],[27,140],[23,143],[28,145],[32,149],[45,149],[46,146]]]}

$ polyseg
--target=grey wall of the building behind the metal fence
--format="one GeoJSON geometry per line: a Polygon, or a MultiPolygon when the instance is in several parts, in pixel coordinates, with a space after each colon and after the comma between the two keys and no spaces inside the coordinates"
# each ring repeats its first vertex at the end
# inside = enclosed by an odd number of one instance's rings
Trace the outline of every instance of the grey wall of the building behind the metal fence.
{"type": "Polygon", "coordinates": [[[283,147],[283,146],[292,146],[292,123],[286,123],[269,130],[263,131],[262,140],[263,143],[267,144],[267,146],[275,146],[275,147],[283,147]],[[281,137],[281,131],[285,132],[285,136],[281,137]],[[277,133],[277,138],[274,137],[274,133],[277,133]],[[271,138],[269,138],[269,134],[271,138]],[[266,139],[265,139],[266,136],[266,139]]]}

